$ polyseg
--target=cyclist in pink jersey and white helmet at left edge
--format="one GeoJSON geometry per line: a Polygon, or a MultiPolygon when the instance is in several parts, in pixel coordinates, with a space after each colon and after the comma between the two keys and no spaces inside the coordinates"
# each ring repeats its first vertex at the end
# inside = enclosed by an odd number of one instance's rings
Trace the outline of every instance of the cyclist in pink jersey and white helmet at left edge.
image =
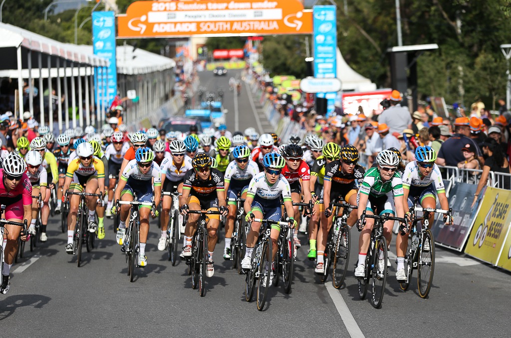
{"type": "MultiPolygon", "coordinates": [[[[27,165],[19,155],[12,152],[4,158],[3,167],[0,169],[0,204],[6,206],[4,218],[12,222],[27,220],[30,224],[32,222],[32,184],[25,174],[27,165]]],[[[14,225],[5,226],[5,264],[0,285],[0,293],[4,295],[9,291],[9,273],[18,250],[18,236],[21,229],[14,225]]],[[[21,236],[22,240],[28,238],[27,234],[21,236]]]]}

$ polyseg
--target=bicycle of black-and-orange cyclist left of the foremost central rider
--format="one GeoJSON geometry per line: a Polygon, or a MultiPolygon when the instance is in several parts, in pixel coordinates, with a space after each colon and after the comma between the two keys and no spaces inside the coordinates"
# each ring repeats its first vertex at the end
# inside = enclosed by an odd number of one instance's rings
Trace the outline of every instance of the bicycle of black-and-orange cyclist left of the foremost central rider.
{"type": "MultiPolygon", "coordinates": [[[[197,231],[192,239],[192,256],[185,258],[187,264],[190,266],[192,273],[192,288],[196,289],[199,286],[199,294],[204,297],[205,294],[205,277],[207,264],[210,261],[207,252],[207,215],[220,215],[221,211],[214,210],[188,210],[187,216],[184,218],[183,223],[186,224],[188,214],[199,214],[197,221],[197,231]]],[[[213,261],[211,262],[213,264],[213,261]]]]}

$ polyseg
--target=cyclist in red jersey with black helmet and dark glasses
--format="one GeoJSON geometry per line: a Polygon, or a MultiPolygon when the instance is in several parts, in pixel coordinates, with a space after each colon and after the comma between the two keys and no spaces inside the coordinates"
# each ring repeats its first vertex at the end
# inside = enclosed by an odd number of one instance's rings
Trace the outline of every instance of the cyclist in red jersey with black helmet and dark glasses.
{"type": "MultiPolygon", "coordinates": [[[[304,156],[304,150],[297,144],[291,143],[284,148],[282,155],[286,159],[286,165],[282,170],[282,175],[284,175],[289,182],[293,203],[301,202],[302,194],[306,203],[312,201],[310,189],[311,170],[309,165],[302,159],[304,156]]],[[[293,208],[294,214],[299,215],[298,207],[293,206],[293,208]]],[[[309,210],[308,212],[312,212],[312,210],[309,210]]],[[[295,220],[298,222],[299,226],[301,218],[295,217],[295,220]]],[[[296,248],[301,247],[297,231],[294,232],[294,244],[296,248]]]]}

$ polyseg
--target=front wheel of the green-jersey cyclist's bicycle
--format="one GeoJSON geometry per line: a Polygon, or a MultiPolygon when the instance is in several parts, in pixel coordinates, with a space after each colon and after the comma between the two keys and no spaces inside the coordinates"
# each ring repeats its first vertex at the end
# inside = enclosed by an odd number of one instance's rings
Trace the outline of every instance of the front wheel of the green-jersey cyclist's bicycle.
{"type": "Polygon", "coordinates": [[[380,308],[385,294],[385,283],[387,281],[387,241],[385,237],[379,236],[376,239],[376,248],[373,257],[373,299],[371,304],[380,308]]]}

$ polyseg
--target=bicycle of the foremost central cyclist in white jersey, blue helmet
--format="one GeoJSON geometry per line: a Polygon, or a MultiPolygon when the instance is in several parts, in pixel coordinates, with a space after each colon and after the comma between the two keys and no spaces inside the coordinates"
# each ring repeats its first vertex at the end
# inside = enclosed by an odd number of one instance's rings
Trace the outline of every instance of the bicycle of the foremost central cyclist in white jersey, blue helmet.
{"type": "MultiPolygon", "coordinates": [[[[262,311],[266,303],[268,289],[270,288],[272,242],[270,238],[271,225],[288,226],[287,222],[254,219],[260,222],[259,236],[252,253],[252,267],[246,271],[245,300],[250,302],[254,293],[254,283],[258,280],[257,309],[262,311]]],[[[294,246],[293,246],[294,247],[294,246]]]]}

